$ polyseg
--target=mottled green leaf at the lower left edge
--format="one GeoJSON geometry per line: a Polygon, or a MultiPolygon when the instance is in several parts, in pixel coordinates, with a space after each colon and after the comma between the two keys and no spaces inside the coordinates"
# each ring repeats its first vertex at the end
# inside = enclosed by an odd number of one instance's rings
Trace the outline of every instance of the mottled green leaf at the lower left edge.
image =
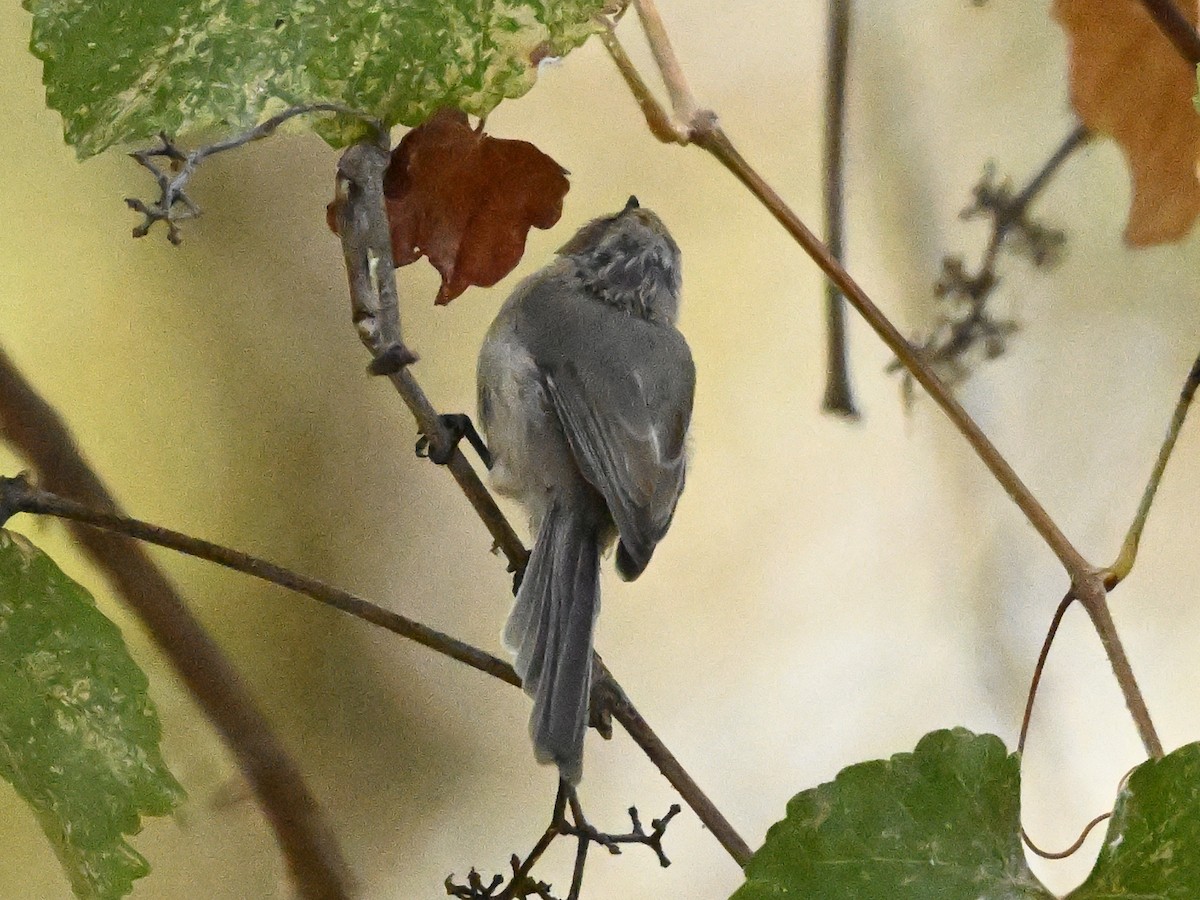
{"type": "Polygon", "coordinates": [[[124,896],[149,871],[125,835],[184,797],[160,737],[116,625],[0,529],[0,776],[34,809],[76,895],[124,896]]]}

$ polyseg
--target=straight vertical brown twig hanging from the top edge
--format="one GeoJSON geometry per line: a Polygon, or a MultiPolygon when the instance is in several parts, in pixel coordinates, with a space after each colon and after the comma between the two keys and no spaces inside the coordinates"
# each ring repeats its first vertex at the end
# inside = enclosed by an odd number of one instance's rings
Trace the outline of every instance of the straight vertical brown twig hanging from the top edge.
{"type": "MultiPolygon", "coordinates": [[[[824,226],[826,241],[834,258],[846,262],[845,143],[846,68],[850,59],[852,0],[829,0],[826,38],[824,119],[824,226]]],[[[854,391],[850,385],[846,343],[846,300],[832,281],[826,281],[826,390],[821,408],[827,413],[858,418],[854,391]]]]}

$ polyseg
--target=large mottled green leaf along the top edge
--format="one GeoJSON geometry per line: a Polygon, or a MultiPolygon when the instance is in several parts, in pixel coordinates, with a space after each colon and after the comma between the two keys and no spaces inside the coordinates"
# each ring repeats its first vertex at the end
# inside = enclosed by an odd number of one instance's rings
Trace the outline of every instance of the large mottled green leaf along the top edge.
{"type": "MultiPolygon", "coordinates": [[[[304,103],[386,125],[486,115],[582,44],[606,0],[24,0],[67,143],[90,156],[166,131],[244,127],[304,103]]],[[[329,125],[335,143],[356,122],[329,125]]]]}

